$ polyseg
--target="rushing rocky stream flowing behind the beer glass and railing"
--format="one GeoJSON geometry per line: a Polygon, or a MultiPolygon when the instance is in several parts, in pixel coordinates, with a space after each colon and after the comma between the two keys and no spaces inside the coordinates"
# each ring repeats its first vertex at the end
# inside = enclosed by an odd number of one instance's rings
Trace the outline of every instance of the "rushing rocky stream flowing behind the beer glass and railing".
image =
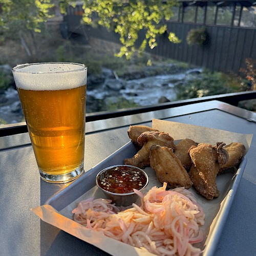
{"type": "MultiPolygon", "coordinates": [[[[113,72],[108,70],[105,73],[110,75],[106,75],[103,81],[93,83],[88,79],[87,112],[101,111],[98,109],[99,101],[115,103],[118,99],[125,99],[140,106],[158,104],[163,102],[161,100],[174,101],[176,99],[174,87],[198,76],[201,72],[200,68],[187,69],[175,74],[125,80],[113,77],[111,75],[113,72]]],[[[24,121],[18,94],[13,88],[0,94],[0,124],[3,120],[6,123],[24,121]]]]}

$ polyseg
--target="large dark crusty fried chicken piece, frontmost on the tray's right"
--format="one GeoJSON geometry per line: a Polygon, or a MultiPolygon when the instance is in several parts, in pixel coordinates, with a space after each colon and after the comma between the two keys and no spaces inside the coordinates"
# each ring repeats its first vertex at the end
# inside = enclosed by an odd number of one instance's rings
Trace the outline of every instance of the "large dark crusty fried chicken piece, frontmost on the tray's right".
{"type": "Polygon", "coordinates": [[[216,184],[219,168],[216,166],[216,152],[211,144],[199,143],[189,149],[193,164],[189,170],[189,177],[197,192],[211,200],[218,197],[220,192],[216,184]]]}

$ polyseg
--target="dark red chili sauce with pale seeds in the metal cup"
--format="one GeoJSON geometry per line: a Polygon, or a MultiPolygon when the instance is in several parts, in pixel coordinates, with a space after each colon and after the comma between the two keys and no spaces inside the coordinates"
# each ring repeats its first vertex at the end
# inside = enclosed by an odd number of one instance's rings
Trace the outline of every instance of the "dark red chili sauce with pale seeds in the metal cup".
{"type": "Polygon", "coordinates": [[[124,194],[133,192],[133,188],[141,189],[147,179],[139,169],[120,165],[102,172],[97,181],[99,186],[106,191],[124,194]]]}

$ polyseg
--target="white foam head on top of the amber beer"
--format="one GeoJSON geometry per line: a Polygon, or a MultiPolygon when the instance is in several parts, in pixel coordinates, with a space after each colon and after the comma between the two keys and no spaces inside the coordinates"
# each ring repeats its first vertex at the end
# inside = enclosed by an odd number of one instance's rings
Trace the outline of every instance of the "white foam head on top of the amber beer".
{"type": "Polygon", "coordinates": [[[16,87],[33,91],[56,91],[84,86],[87,68],[74,63],[38,63],[13,69],[16,87]]]}

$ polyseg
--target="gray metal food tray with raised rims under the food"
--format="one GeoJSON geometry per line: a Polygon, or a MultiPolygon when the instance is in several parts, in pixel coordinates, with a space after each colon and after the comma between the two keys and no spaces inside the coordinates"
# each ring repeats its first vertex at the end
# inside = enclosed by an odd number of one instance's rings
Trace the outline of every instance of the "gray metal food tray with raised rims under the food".
{"type": "MultiPolygon", "coordinates": [[[[49,198],[45,204],[51,205],[57,211],[59,211],[61,215],[72,219],[71,212],[68,214],[68,216],[65,214],[65,208],[67,206],[77,203],[82,199],[91,197],[92,195],[96,198],[101,197],[101,194],[99,194],[99,189],[95,184],[96,175],[100,172],[100,170],[111,165],[123,164],[123,160],[125,158],[130,158],[136,153],[137,148],[135,145],[131,141],[126,143],[112,155],[101,161],[93,168],[89,169],[68,187],[63,188],[49,198]],[[62,213],[63,210],[64,213],[62,213]]],[[[216,183],[218,189],[220,190],[220,196],[214,200],[207,200],[203,198],[201,195],[196,193],[194,188],[189,189],[194,192],[198,203],[205,211],[205,225],[203,226],[205,239],[201,243],[197,244],[197,247],[203,250],[203,255],[214,255],[222,229],[228,216],[229,209],[243,175],[246,162],[247,159],[244,157],[239,168],[237,169],[236,174],[227,173],[217,176],[216,183]]],[[[146,167],[145,171],[148,173],[150,179],[146,190],[149,190],[152,186],[162,186],[151,167],[146,167]]]]}

